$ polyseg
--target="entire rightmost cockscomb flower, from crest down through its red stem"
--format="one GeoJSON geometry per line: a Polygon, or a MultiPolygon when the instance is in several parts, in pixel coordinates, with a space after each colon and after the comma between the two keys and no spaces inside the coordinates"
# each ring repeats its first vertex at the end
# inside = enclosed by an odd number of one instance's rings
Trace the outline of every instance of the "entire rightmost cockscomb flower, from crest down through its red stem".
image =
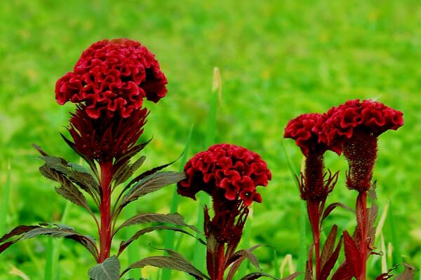
{"type": "Polygon", "coordinates": [[[366,262],[374,244],[376,207],[367,208],[373,168],[377,158],[377,137],[403,125],[403,113],[380,102],[350,100],[327,113],[322,138],[342,148],[349,163],[347,187],[359,192],[356,198],[357,227],[354,238],[344,232],[346,263],[344,272],[358,280],[366,280],[366,262]]]}

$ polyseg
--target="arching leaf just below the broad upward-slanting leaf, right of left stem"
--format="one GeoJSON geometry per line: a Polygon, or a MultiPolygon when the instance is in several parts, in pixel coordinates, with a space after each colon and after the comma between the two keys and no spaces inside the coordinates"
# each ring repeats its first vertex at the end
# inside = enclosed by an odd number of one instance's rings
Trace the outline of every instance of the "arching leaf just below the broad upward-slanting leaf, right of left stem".
{"type": "Polygon", "coordinates": [[[128,227],[129,225],[139,225],[142,223],[171,223],[173,225],[181,225],[188,227],[195,232],[199,232],[194,226],[187,225],[185,223],[182,216],[178,213],[175,214],[156,214],[156,213],[142,213],[133,216],[132,218],[129,218],[127,221],[122,223],[119,228],[115,230],[115,232],[118,232],[122,228],[128,227]]]}

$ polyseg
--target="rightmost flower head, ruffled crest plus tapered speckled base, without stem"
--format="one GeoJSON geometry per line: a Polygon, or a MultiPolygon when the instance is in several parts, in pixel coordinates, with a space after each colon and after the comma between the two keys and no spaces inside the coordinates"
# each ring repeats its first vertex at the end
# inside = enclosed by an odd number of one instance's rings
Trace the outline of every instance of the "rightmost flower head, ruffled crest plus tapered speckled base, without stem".
{"type": "MultiPolygon", "coordinates": [[[[359,192],[369,190],[377,158],[377,137],[403,125],[403,113],[373,100],[350,100],[327,113],[323,138],[339,143],[349,162],[347,186],[359,192]]],[[[338,145],[339,145],[338,144],[338,145]]]]}

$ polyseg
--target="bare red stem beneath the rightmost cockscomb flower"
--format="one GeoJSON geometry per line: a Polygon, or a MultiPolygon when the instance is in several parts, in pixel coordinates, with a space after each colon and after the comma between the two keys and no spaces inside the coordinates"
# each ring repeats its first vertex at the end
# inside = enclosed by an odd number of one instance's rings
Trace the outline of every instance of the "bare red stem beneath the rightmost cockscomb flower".
{"type": "Polygon", "coordinates": [[[360,229],[360,240],[359,240],[359,247],[361,253],[361,275],[359,280],[366,280],[366,262],[367,262],[367,240],[368,240],[368,232],[367,232],[367,191],[362,191],[359,193],[357,197],[357,206],[361,213],[361,219],[357,217],[357,223],[360,229]]]}

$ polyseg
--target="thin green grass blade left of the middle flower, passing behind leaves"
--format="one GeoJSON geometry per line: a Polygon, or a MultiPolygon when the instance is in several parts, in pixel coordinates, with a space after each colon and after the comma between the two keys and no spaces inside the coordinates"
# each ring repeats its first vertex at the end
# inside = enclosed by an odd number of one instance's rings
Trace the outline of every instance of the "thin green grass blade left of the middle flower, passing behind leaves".
{"type": "MultiPolygon", "coordinates": [[[[189,154],[189,148],[190,148],[190,141],[192,140],[192,133],[193,133],[194,125],[190,127],[189,134],[187,134],[186,144],[185,144],[185,150],[182,154],[182,158],[180,160],[180,172],[184,169],[184,166],[187,162],[187,155],[189,154]]],[[[171,202],[171,213],[175,213],[178,210],[178,200],[179,195],[177,193],[177,186],[174,186],[174,195],[173,195],[173,201],[171,202]]],[[[166,232],[166,238],[165,238],[165,247],[167,249],[173,250],[175,248],[175,232],[168,230],[166,232]]],[[[162,269],[161,274],[162,280],[171,280],[171,269],[162,269]]]]}

